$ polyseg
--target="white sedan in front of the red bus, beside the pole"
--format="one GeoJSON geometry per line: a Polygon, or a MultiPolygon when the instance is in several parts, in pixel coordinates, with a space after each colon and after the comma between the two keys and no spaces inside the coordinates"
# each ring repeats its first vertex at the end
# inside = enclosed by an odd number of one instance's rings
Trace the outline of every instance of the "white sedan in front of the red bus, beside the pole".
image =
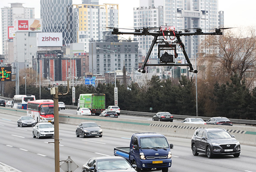
{"type": "Polygon", "coordinates": [[[41,122],[35,124],[32,132],[33,138],[38,137],[53,137],[54,136],[54,126],[49,122],[41,122]]]}

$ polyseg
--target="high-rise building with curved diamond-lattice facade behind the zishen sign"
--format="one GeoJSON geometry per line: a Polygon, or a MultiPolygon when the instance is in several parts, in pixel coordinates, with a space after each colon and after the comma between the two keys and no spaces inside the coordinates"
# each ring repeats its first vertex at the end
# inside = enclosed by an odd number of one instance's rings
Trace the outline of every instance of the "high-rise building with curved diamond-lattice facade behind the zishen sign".
{"type": "Polygon", "coordinates": [[[62,33],[63,45],[73,43],[72,0],[41,0],[43,32],[62,33]]]}

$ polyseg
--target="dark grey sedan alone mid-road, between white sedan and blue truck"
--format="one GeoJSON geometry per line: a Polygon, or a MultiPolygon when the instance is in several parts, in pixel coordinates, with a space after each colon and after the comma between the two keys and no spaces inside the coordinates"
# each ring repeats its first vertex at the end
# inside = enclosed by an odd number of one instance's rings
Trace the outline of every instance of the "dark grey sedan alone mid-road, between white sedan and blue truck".
{"type": "Polygon", "coordinates": [[[76,126],[76,137],[83,136],[83,138],[89,136],[102,137],[102,129],[95,122],[81,122],[76,126]]]}

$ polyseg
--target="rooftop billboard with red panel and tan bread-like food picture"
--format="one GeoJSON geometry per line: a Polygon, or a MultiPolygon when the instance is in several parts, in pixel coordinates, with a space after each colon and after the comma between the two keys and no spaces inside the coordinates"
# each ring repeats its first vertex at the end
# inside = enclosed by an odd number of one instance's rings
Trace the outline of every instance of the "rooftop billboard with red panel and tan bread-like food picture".
{"type": "Polygon", "coordinates": [[[15,19],[15,32],[41,32],[42,19],[15,19]]]}

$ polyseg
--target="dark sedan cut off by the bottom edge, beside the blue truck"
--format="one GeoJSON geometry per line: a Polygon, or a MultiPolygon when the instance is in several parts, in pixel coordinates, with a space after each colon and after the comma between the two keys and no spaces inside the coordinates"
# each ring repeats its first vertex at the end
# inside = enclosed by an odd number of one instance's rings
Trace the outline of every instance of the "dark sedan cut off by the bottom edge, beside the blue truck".
{"type": "Polygon", "coordinates": [[[136,172],[133,166],[119,156],[96,157],[83,165],[82,172],[136,172]]]}

